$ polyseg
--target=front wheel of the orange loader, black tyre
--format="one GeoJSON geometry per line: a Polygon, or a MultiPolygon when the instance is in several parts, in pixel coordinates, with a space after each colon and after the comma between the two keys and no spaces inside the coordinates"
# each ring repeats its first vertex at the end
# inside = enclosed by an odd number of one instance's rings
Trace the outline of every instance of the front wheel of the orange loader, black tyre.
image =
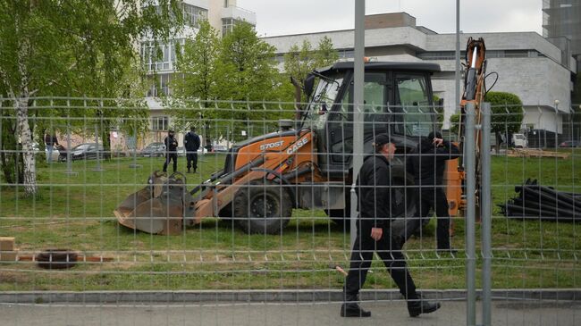
{"type": "Polygon", "coordinates": [[[292,202],[287,190],[272,180],[252,180],[232,203],[234,218],[249,234],[280,234],[289,223],[292,202]]]}

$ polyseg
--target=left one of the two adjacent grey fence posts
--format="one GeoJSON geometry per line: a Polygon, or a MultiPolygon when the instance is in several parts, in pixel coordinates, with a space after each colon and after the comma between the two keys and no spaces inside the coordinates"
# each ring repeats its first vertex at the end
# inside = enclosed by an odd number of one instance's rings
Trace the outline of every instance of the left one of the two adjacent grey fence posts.
{"type": "Polygon", "coordinates": [[[466,105],[466,288],[468,326],[476,325],[476,106],[466,105]]]}

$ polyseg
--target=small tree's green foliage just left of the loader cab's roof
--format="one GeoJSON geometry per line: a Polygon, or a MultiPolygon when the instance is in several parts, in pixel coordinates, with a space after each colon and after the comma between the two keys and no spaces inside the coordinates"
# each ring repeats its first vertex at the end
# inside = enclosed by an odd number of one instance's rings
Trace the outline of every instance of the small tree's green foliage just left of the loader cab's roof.
{"type": "MultiPolygon", "coordinates": [[[[306,39],[300,46],[290,46],[289,52],[284,54],[284,71],[299,82],[304,89],[304,80],[307,74],[316,68],[331,65],[339,59],[339,54],[333,48],[331,38],[324,37],[319,41],[316,49],[306,39]]],[[[304,95],[304,91],[302,92],[304,95]]]]}

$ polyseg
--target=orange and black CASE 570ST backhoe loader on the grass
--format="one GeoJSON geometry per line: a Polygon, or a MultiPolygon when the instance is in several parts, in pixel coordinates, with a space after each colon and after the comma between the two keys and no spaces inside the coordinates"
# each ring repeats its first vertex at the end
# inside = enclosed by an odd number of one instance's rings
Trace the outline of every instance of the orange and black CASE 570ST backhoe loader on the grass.
{"type": "MultiPolygon", "coordinates": [[[[297,113],[295,128],[293,121],[280,121],[280,130],[232,146],[223,170],[189,191],[180,173],[154,173],[147,187],[115,209],[118,221],[168,235],[180,234],[206,217],[231,220],[248,233],[277,234],[293,208],[323,209],[333,222],[349,221],[353,65],[335,63],[307,76],[304,91],[309,100],[297,113]]],[[[365,63],[364,153],[372,153],[375,135],[392,135],[397,147],[392,160],[396,217],[416,213],[405,156],[436,128],[431,82],[436,71],[440,66],[435,63],[365,63]]],[[[450,213],[459,208],[461,178],[458,163],[451,164],[444,177],[454,188],[449,192],[454,195],[450,201],[455,201],[450,213]]]]}

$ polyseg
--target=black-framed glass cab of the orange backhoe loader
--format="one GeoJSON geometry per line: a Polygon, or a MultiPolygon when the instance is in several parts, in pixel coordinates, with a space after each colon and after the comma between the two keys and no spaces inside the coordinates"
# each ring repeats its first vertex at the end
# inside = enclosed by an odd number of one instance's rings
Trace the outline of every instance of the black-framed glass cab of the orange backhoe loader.
{"type": "MultiPolygon", "coordinates": [[[[366,63],[364,79],[364,153],[372,153],[374,135],[388,132],[407,153],[417,139],[434,130],[431,75],[433,63],[366,63]]],[[[310,104],[302,127],[314,130],[318,164],[331,179],[349,174],[353,152],[353,63],[335,63],[314,71],[306,80],[310,104]]]]}

